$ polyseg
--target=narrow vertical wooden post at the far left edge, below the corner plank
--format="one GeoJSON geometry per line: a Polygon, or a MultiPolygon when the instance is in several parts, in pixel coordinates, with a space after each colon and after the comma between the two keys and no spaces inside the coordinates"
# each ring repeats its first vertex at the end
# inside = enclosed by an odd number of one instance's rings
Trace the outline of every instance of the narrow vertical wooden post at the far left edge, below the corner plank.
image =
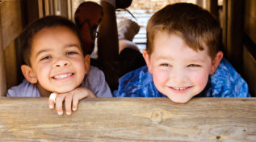
{"type": "MultiPolygon", "coordinates": [[[[0,5],[1,6],[1,5],[0,5]]],[[[6,70],[3,58],[3,45],[2,45],[2,22],[0,14],[0,96],[6,95],[6,70]]]]}

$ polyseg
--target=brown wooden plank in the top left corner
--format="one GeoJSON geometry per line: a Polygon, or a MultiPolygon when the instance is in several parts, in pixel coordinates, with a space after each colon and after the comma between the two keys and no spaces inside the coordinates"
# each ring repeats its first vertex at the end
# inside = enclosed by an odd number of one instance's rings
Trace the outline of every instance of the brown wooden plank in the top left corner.
{"type": "Polygon", "coordinates": [[[20,0],[3,1],[0,4],[2,22],[2,46],[5,49],[22,32],[20,0]]]}

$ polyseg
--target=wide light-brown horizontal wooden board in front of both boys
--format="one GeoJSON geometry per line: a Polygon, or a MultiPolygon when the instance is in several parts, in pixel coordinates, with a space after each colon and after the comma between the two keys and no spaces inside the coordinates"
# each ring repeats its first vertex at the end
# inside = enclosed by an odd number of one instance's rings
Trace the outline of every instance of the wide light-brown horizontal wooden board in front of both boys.
{"type": "Polygon", "coordinates": [[[256,98],[83,99],[71,116],[48,98],[0,97],[2,141],[255,141],[256,98]]]}

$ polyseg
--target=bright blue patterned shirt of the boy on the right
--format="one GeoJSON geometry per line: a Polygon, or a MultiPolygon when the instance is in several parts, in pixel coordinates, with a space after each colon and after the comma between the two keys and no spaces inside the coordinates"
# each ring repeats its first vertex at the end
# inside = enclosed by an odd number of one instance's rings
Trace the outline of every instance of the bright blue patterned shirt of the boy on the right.
{"type": "MultiPolygon", "coordinates": [[[[148,67],[131,71],[119,79],[120,85],[114,91],[115,97],[165,97],[153,84],[148,67]]],[[[250,97],[248,85],[231,64],[222,59],[213,75],[209,75],[204,91],[199,97],[250,97]]]]}

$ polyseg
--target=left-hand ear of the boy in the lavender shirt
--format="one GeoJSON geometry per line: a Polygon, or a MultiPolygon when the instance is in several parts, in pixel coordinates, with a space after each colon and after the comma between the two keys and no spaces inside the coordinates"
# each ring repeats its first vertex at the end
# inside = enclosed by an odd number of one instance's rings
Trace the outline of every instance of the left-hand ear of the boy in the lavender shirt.
{"type": "Polygon", "coordinates": [[[31,67],[27,65],[22,65],[21,71],[23,71],[23,75],[25,76],[28,82],[37,83],[36,74],[34,73],[34,71],[32,71],[31,67]]]}

